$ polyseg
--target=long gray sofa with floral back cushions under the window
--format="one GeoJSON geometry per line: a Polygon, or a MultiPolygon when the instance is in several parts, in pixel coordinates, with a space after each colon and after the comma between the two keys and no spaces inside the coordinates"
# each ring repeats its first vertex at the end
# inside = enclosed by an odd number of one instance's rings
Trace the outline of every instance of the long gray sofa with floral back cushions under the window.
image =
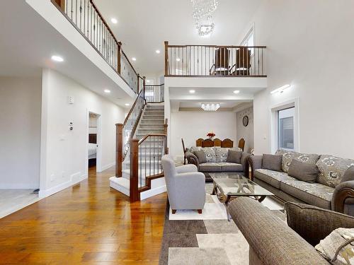
{"type": "Polygon", "coordinates": [[[336,158],[333,155],[316,155],[277,151],[282,155],[282,170],[262,168],[262,155],[251,155],[251,179],[282,201],[312,204],[325,209],[354,216],[354,178],[341,182],[346,170],[354,165],[354,160],[336,158]],[[287,172],[292,160],[315,164],[319,169],[316,182],[304,182],[290,177],[287,172]]]}

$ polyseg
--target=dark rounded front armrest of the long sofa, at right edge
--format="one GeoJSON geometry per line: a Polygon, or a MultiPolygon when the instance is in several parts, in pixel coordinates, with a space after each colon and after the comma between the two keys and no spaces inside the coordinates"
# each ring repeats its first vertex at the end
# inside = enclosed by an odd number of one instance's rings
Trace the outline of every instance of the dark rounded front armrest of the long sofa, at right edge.
{"type": "Polygon", "coordinates": [[[354,180],[342,182],[334,189],[331,208],[338,213],[354,213],[354,180]],[[351,208],[351,211],[350,211],[351,208]]]}

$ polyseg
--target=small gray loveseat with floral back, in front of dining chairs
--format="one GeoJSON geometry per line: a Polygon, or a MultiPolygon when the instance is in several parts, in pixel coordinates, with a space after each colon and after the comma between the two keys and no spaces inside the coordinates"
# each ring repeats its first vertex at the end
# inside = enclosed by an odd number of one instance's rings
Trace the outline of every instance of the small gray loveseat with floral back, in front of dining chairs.
{"type": "Polygon", "coordinates": [[[185,157],[189,164],[196,165],[199,172],[240,172],[246,174],[249,168],[248,158],[251,154],[242,153],[240,163],[228,163],[227,154],[229,150],[240,151],[240,148],[221,148],[221,147],[191,147],[185,153],[185,157]],[[204,151],[206,153],[207,162],[200,163],[195,151],[204,151]]]}

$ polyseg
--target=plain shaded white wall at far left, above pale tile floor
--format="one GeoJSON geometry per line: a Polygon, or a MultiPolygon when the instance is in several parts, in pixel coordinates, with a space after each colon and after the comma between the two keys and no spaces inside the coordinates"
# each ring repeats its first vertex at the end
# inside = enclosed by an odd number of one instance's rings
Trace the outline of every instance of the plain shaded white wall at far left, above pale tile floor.
{"type": "Polygon", "coordinates": [[[0,189],[40,187],[40,78],[0,77],[0,189]]]}

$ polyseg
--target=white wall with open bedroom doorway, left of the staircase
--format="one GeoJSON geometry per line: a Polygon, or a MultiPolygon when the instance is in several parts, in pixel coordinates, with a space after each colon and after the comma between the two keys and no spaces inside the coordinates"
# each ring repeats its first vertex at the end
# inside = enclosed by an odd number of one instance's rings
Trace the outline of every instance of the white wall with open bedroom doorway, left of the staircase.
{"type": "Polygon", "coordinates": [[[43,70],[40,196],[87,177],[89,112],[101,114],[101,165],[105,170],[115,163],[115,123],[124,119],[122,108],[56,71],[43,70]],[[68,104],[68,96],[74,97],[74,104],[68,104]],[[74,124],[72,131],[69,122],[74,124]]]}

